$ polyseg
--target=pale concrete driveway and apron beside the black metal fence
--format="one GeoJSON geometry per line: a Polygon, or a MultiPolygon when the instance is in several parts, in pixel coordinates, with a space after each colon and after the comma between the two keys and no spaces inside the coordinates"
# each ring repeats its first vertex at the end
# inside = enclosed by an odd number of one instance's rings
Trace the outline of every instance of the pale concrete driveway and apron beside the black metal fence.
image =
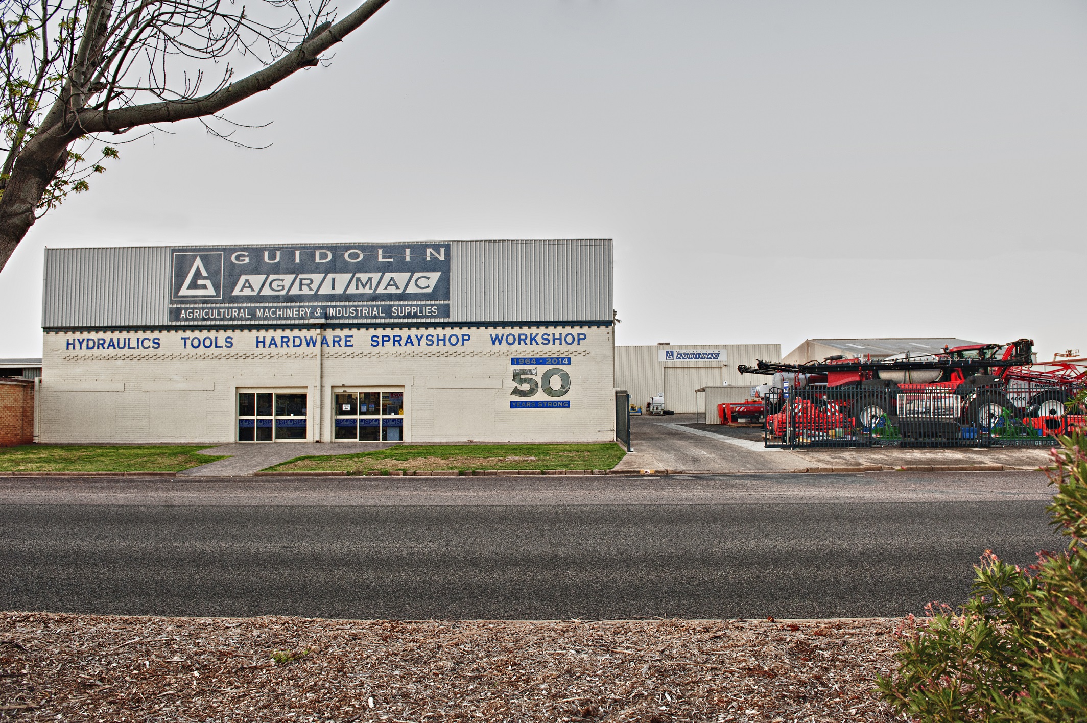
{"type": "Polygon", "coordinates": [[[1050,459],[1049,448],[1044,447],[767,449],[757,427],[707,425],[704,419],[702,414],[632,417],[632,452],[615,469],[742,473],[904,466],[917,472],[998,471],[1036,470],[1050,459]]]}

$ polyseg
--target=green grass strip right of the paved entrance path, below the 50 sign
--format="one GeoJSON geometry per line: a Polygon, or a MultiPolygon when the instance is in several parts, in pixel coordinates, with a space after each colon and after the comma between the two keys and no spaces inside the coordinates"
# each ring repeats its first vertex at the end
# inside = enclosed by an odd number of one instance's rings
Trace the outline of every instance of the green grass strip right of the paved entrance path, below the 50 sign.
{"type": "Polygon", "coordinates": [[[385,470],[610,470],[626,452],[596,445],[411,445],[358,454],[297,457],[268,468],[283,472],[385,470]]]}

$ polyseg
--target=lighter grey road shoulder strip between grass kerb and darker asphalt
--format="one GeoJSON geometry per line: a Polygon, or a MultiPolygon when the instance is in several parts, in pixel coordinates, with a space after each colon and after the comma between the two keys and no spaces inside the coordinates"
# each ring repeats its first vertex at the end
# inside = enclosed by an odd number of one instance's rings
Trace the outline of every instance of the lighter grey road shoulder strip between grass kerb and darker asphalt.
{"type": "Polygon", "coordinates": [[[0,477],[0,506],[673,506],[1046,502],[1038,472],[558,477],[0,477]]]}

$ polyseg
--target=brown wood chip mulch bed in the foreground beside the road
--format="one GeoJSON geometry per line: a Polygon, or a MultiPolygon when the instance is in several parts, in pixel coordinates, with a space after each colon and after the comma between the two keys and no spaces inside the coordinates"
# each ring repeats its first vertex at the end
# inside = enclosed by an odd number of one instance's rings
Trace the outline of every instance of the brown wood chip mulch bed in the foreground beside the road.
{"type": "Polygon", "coordinates": [[[895,621],[0,613],[0,720],[896,721],[895,621]]]}

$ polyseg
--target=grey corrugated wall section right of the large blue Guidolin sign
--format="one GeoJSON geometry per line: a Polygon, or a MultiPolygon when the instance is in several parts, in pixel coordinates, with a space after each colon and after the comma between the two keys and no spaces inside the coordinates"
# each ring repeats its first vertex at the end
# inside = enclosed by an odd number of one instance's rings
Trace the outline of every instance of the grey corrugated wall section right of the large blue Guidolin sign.
{"type": "Polygon", "coordinates": [[[459,241],[453,321],[611,321],[611,240],[459,241]]]}

